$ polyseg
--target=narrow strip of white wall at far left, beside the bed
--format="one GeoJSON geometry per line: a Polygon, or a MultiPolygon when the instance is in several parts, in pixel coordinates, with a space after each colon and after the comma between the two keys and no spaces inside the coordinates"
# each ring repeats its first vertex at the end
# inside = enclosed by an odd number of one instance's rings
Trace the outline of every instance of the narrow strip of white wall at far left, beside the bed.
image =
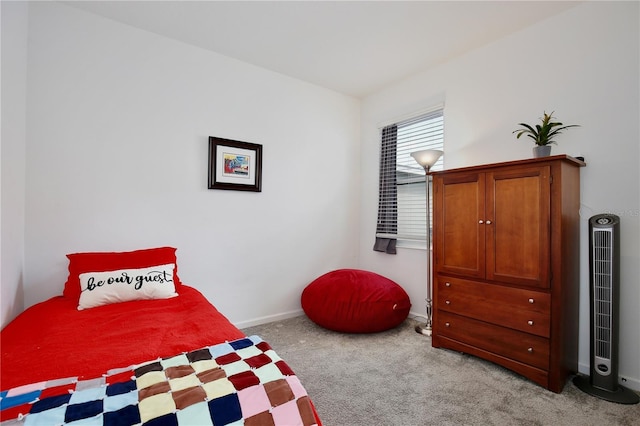
{"type": "Polygon", "coordinates": [[[2,18],[2,139],[0,141],[1,326],[24,308],[24,202],[28,9],[0,3],[2,18]]]}

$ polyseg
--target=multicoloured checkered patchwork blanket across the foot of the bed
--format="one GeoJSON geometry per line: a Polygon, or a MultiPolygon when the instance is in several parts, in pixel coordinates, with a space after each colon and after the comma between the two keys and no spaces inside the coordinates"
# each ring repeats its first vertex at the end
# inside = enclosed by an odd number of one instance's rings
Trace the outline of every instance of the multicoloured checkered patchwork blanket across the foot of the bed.
{"type": "Polygon", "coordinates": [[[317,424],[306,390],[258,336],[0,392],[0,425],[317,424]]]}

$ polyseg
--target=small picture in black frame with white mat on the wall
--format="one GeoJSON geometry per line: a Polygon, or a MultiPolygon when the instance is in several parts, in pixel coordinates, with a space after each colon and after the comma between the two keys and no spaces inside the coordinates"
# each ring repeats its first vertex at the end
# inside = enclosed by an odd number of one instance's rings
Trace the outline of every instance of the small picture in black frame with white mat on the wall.
{"type": "Polygon", "coordinates": [[[262,145],[209,136],[209,189],[262,192],[262,145]]]}

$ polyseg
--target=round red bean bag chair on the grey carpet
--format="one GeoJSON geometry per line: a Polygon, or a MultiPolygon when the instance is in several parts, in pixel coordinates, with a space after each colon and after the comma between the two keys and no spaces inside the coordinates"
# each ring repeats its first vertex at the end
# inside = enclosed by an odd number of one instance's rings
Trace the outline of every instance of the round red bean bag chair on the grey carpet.
{"type": "Polygon", "coordinates": [[[398,326],[409,315],[409,296],[373,272],[339,269],[313,280],[302,292],[309,319],[330,330],[374,333],[398,326]]]}

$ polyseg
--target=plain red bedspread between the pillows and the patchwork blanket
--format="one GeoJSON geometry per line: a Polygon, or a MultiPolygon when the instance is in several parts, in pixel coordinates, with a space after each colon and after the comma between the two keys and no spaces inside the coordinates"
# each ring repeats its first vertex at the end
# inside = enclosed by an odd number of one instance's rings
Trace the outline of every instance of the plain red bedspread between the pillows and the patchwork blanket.
{"type": "Polygon", "coordinates": [[[244,337],[196,289],[171,299],[78,311],[58,296],[25,310],[0,332],[0,389],[105,371],[244,337]]]}

